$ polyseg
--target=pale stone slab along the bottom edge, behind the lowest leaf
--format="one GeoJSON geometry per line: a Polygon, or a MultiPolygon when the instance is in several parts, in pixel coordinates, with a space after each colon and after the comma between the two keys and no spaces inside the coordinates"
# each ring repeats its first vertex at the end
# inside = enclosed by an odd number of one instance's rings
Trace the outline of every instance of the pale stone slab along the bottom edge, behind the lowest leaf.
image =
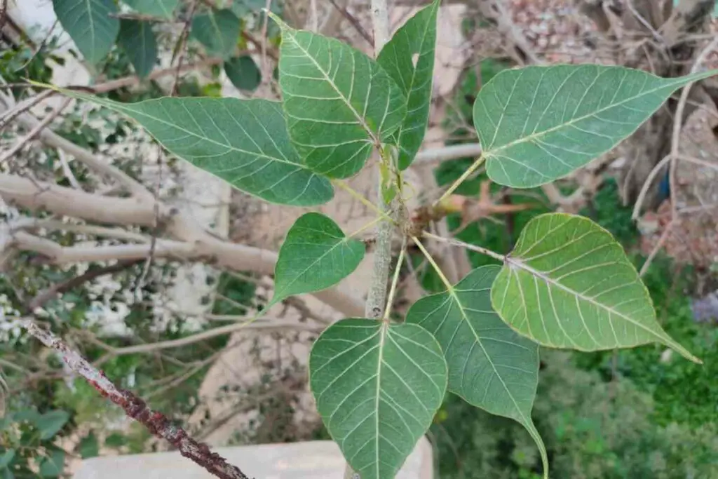
{"type": "MultiPolygon", "coordinates": [[[[217,450],[250,478],[341,479],[344,458],[332,441],[220,447],[217,450]]],[[[179,452],[95,457],[83,461],[75,479],[211,479],[179,452]]],[[[422,437],[396,479],[432,479],[432,446],[422,437]]]]}

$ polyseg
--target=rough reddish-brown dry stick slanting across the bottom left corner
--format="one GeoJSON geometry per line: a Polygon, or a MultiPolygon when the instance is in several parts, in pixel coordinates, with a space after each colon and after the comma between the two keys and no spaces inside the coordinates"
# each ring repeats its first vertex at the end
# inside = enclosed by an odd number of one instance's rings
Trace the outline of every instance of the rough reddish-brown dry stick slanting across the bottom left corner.
{"type": "Polygon", "coordinates": [[[23,326],[47,348],[60,353],[67,366],[83,376],[100,394],[120,406],[125,414],[144,425],[149,432],[177,447],[181,455],[202,466],[217,478],[249,479],[238,467],[228,463],[216,452],[212,452],[208,445],[197,442],[184,429],[173,426],[164,414],[152,411],[144,401],[130,391],[118,389],[102,371],[95,369],[52,332],[43,330],[32,320],[25,320],[23,326]]]}

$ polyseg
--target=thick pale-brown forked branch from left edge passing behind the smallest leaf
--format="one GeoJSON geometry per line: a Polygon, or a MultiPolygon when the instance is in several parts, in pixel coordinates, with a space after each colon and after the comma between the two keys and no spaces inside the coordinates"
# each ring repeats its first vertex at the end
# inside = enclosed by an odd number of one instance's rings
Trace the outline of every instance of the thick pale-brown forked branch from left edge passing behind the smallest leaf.
{"type": "MultiPolygon", "coordinates": [[[[23,208],[43,209],[95,223],[151,227],[155,220],[154,200],[151,196],[118,198],[93,195],[73,188],[34,182],[2,173],[0,197],[23,208]]],[[[160,213],[162,221],[167,223],[169,236],[179,241],[158,241],[155,251],[157,257],[205,261],[235,271],[274,274],[277,259],[274,251],[224,241],[205,231],[189,215],[178,213],[164,204],[160,205],[160,213]]],[[[11,242],[16,248],[37,251],[58,263],[146,258],[150,246],[130,244],[62,247],[22,231],[14,233],[11,242]]],[[[348,317],[363,315],[363,302],[340,287],[325,289],[313,295],[348,317]]]]}

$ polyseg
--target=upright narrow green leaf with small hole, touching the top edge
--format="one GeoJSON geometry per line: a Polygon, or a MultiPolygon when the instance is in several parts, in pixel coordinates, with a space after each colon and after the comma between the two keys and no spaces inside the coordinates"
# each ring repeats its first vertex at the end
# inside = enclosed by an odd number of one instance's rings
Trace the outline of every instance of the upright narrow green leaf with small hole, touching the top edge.
{"type": "Polygon", "coordinates": [[[434,0],[419,10],[397,30],[376,59],[406,96],[406,118],[394,134],[400,169],[414,161],[429,121],[440,3],[434,0]]]}

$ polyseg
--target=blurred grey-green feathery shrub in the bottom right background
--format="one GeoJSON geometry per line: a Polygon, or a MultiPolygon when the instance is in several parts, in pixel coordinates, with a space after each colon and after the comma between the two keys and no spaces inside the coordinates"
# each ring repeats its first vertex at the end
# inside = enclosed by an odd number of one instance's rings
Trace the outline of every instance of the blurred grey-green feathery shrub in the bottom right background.
{"type": "MultiPolygon", "coordinates": [[[[651,394],[577,367],[574,353],[541,350],[535,413],[554,479],[712,479],[718,427],[653,421],[651,394]]],[[[531,437],[507,419],[451,397],[432,427],[442,479],[539,478],[531,437]]]]}

